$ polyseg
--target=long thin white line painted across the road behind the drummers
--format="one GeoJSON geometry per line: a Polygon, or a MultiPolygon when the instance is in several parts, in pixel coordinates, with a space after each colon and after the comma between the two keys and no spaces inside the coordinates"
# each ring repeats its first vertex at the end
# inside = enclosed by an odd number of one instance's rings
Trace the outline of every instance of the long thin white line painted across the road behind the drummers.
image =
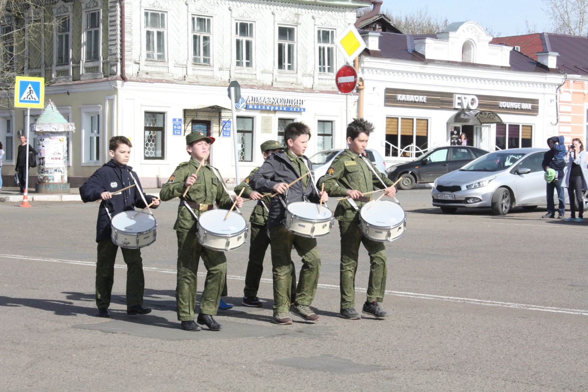
{"type": "MultiPolygon", "coordinates": [[[[95,267],[96,266],[96,263],[93,263],[93,262],[82,262],[80,260],[66,260],[66,259],[46,259],[44,257],[22,256],[20,254],[2,254],[2,253],[0,253],[0,257],[5,257],[6,259],[31,260],[31,261],[35,261],[35,262],[77,264],[77,265],[88,266],[88,267],[95,267]]],[[[126,269],[125,264],[115,264],[114,266],[115,266],[115,268],[126,269]]],[[[156,268],[156,267],[143,267],[143,270],[152,271],[152,272],[161,272],[161,273],[173,273],[173,274],[176,273],[176,270],[156,268]]],[[[199,272],[198,276],[206,276],[206,273],[199,272]]],[[[231,279],[231,280],[245,280],[244,276],[238,276],[238,275],[227,275],[226,277],[227,277],[227,279],[231,279]]],[[[272,279],[267,279],[267,278],[262,278],[261,282],[273,283],[272,279]]],[[[336,284],[324,284],[324,283],[319,283],[318,287],[320,287],[322,289],[329,289],[329,290],[339,290],[339,288],[340,288],[336,284]]],[[[355,291],[360,292],[360,293],[366,293],[366,292],[368,292],[368,289],[364,289],[363,287],[356,287],[355,291]]],[[[426,300],[461,302],[461,303],[468,303],[468,304],[474,304],[474,305],[510,307],[510,308],[523,309],[523,310],[550,311],[553,313],[579,314],[580,316],[588,316],[588,310],[582,310],[582,309],[567,309],[567,308],[562,308],[562,307],[530,305],[530,304],[513,303],[513,302],[502,302],[502,301],[479,300],[479,299],[462,298],[462,297],[439,296],[439,295],[435,295],[435,294],[395,292],[392,290],[386,290],[385,293],[393,295],[393,296],[397,296],[397,297],[409,297],[409,298],[426,299],[426,300]]]]}

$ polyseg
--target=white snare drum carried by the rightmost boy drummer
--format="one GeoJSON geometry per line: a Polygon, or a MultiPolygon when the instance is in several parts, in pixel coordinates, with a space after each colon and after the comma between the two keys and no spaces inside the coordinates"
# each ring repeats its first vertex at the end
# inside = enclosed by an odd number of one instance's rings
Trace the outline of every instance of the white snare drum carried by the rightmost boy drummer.
{"type": "Polygon", "coordinates": [[[390,200],[365,203],[359,212],[359,220],[363,235],[377,242],[397,240],[406,230],[405,210],[390,200]]]}

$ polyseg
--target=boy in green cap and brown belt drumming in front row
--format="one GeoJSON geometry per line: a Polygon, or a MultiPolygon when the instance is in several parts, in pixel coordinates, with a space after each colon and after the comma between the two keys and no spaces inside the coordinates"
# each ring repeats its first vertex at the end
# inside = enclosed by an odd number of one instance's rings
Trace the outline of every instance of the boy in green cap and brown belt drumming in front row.
{"type": "MultiPolygon", "coordinates": [[[[198,176],[195,175],[203,159],[208,157],[215,138],[206,136],[203,132],[191,132],[186,135],[186,150],[190,155],[188,162],[182,162],[176,167],[172,176],[163,185],[159,197],[164,202],[174,197],[180,198],[178,218],[173,229],[178,237],[178,282],[176,284],[176,309],[178,320],[186,331],[199,331],[194,322],[194,307],[196,304],[196,273],[198,262],[202,256],[206,267],[206,280],[200,299],[198,324],[206,325],[213,331],[222,326],[213,319],[220,302],[220,294],[225,285],[226,258],[225,253],[206,249],[198,242],[198,220],[195,216],[212,210],[214,203],[222,209],[229,209],[232,200],[222,186],[222,178],[217,177],[212,166],[201,167],[198,176]],[[182,197],[186,187],[189,187],[186,197],[182,197]]],[[[236,197],[237,207],[243,206],[243,200],[236,197]]]]}

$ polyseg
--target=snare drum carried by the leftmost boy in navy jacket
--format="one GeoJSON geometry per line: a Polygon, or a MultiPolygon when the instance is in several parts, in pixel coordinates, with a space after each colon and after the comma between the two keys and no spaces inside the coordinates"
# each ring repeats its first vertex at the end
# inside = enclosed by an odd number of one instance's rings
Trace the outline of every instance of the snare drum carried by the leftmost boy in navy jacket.
{"type": "Polygon", "coordinates": [[[157,222],[153,215],[136,211],[123,211],[112,217],[111,240],[126,249],[139,249],[155,242],[157,222]],[[134,216],[134,217],[133,217],[134,216]]]}

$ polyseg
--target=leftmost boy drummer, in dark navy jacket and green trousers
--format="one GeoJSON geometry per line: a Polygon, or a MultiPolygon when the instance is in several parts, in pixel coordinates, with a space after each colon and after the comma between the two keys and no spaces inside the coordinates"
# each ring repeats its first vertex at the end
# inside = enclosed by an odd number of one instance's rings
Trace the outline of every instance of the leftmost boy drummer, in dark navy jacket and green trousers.
{"type": "MultiPolygon", "coordinates": [[[[110,217],[123,211],[134,211],[135,207],[146,207],[145,201],[151,203],[153,197],[142,193],[139,176],[126,166],[131,155],[131,140],[125,136],[114,136],[110,139],[110,156],[100,169],[79,188],[84,203],[102,199],[98,209],[96,222],[96,242],[98,243],[98,260],[96,261],[96,306],[99,317],[110,317],[108,307],[111,302],[112,284],[114,282],[114,263],[118,246],[111,241],[110,217]],[[112,195],[116,190],[136,184],[124,192],[112,195]],[[143,198],[145,200],[143,200],[143,198]]],[[[159,200],[153,208],[159,206],[159,200]]],[[[127,264],[126,272],[126,313],[146,314],[151,309],[143,307],[143,260],[141,250],[122,249],[122,257],[127,264]]]]}

